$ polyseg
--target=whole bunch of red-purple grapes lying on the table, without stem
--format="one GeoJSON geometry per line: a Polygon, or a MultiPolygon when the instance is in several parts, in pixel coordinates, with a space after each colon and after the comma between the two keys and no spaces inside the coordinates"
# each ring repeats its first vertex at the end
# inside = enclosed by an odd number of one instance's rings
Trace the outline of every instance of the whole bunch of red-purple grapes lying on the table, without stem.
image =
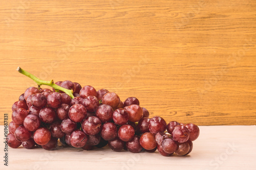
{"type": "Polygon", "coordinates": [[[62,92],[29,87],[12,106],[8,145],[26,149],[41,147],[55,150],[62,145],[83,150],[102,148],[132,153],[158,152],[187,155],[199,136],[195,124],[166,124],[162,117],[149,117],[139,100],[131,97],[121,102],[119,96],[106,89],[81,87],[71,81],[56,82],[72,89],[74,99],[62,92]]]}

